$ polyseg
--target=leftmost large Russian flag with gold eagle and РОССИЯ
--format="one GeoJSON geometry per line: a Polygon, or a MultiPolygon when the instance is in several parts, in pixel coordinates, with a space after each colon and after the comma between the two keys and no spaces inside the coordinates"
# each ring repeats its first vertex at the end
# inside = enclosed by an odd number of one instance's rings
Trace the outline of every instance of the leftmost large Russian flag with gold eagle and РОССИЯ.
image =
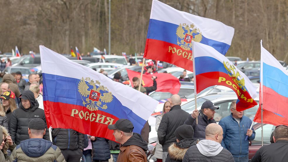
{"type": "Polygon", "coordinates": [[[108,125],[129,119],[140,133],[158,101],[86,66],[40,47],[48,127],[115,140],[108,125]]]}

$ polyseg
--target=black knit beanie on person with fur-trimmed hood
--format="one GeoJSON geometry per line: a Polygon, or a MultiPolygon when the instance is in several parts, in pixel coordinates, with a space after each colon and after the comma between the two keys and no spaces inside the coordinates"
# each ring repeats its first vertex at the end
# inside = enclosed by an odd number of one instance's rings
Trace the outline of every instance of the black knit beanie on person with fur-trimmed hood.
{"type": "Polygon", "coordinates": [[[175,130],[176,138],[181,141],[183,139],[193,138],[194,129],[191,125],[181,125],[175,130]]]}

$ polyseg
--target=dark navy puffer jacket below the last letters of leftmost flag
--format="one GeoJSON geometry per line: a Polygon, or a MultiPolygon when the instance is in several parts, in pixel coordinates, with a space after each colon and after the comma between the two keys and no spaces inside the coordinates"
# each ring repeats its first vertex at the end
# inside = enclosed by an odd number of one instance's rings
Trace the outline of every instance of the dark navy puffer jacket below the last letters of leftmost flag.
{"type": "Polygon", "coordinates": [[[111,158],[108,139],[97,137],[93,142],[92,160],[105,161],[111,158]]]}

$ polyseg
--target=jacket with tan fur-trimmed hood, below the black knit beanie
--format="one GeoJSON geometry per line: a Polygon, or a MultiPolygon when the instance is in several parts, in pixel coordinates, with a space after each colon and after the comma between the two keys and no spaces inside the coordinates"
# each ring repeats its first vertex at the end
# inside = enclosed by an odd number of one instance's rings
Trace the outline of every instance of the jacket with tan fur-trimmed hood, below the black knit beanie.
{"type": "Polygon", "coordinates": [[[168,156],[165,162],[182,162],[186,151],[195,144],[197,142],[193,138],[183,139],[178,143],[171,144],[168,148],[168,156]]]}

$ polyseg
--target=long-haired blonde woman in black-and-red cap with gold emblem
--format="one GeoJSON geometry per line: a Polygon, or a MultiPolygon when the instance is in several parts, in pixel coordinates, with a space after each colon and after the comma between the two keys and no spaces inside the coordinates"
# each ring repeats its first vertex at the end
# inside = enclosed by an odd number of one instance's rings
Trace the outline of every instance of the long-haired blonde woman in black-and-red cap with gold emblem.
{"type": "MultiPolygon", "coordinates": [[[[7,121],[9,122],[10,116],[12,115],[12,112],[17,109],[16,102],[15,102],[15,94],[12,91],[6,91],[1,95],[2,98],[2,106],[0,112],[3,111],[4,115],[6,114],[7,121]]],[[[3,116],[2,114],[0,114],[3,116]]],[[[1,119],[0,116],[0,119],[1,119]]],[[[1,123],[0,123],[1,125],[1,123]]],[[[7,128],[8,129],[8,128],[7,128]]]]}

